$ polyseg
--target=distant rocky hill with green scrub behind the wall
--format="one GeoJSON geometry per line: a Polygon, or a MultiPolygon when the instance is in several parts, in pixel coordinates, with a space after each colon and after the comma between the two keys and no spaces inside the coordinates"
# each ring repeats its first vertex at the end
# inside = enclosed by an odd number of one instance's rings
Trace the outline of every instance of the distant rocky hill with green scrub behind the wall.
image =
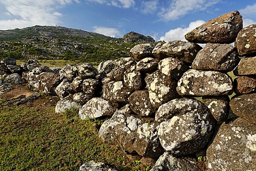
{"type": "Polygon", "coordinates": [[[129,56],[141,43],[155,42],[149,36],[130,32],[123,38],[65,27],[39,26],[0,30],[0,58],[74,59],[99,63],[129,56]]]}

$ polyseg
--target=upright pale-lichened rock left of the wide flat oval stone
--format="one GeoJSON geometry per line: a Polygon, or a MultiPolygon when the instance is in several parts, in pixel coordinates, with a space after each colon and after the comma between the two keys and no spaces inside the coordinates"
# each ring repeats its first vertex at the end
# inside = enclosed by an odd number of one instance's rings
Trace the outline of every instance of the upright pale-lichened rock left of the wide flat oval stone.
{"type": "Polygon", "coordinates": [[[149,91],[150,102],[155,109],[163,103],[179,97],[175,90],[177,81],[160,71],[147,75],[145,81],[149,91]]]}

